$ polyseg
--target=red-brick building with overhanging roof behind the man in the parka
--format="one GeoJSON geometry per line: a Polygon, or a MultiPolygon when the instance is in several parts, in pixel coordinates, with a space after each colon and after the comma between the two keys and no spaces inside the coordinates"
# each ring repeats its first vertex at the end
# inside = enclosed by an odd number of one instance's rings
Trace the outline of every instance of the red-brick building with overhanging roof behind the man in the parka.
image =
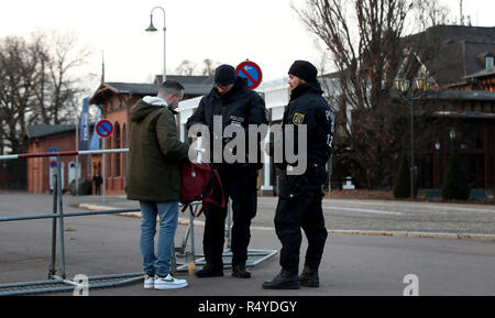
{"type": "MultiPolygon", "coordinates": [[[[185,87],[184,99],[208,92],[213,85],[212,76],[167,76],[167,79],[178,80],[185,87]]],[[[90,107],[100,107],[101,117],[113,123],[113,133],[103,142],[105,149],[129,147],[129,113],[132,106],[144,96],[156,96],[157,76],[153,84],[105,83],[102,81],[89,100],[90,107]]],[[[179,122],[179,116],[177,122],[179,122]]],[[[76,150],[75,125],[32,125],[29,131],[29,152],[48,152],[51,147],[58,151],[76,150]]],[[[92,133],[92,129],[90,129],[92,133]]],[[[91,135],[90,135],[91,138],[91,135]]],[[[127,154],[106,154],[106,193],[123,194],[125,191],[127,154]]],[[[75,157],[62,157],[64,189],[74,179],[75,157]]],[[[91,179],[98,172],[103,175],[103,155],[79,156],[80,177],[91,179]]],[[[28,161],[28,191],[46,193],[50,184],[50,158],[32,158],[28,161]]]]}

